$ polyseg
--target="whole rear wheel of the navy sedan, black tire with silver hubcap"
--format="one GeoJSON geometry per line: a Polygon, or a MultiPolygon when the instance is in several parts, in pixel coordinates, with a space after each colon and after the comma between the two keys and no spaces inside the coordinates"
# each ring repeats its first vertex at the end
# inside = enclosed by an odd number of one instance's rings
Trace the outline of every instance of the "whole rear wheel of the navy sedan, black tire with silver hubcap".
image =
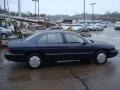
{"type": "Polygon", "coordinates": [[[32,69],[37,69],[42,66],[42,60],[39,54],[32,53],[27,56],[27,64],[32,69]]]}

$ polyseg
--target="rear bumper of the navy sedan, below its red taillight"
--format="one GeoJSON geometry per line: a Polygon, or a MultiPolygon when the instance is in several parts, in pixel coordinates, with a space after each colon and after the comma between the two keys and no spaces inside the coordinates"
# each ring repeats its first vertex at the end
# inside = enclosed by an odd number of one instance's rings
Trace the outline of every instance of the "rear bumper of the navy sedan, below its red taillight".
{"type": "Polygon", "coordinates": [[[14,61],[14,62],[25,62],[26,61],[24,54],[12,54],[10,52],[5,51],[4,57],[9,61],[14,61]]]}

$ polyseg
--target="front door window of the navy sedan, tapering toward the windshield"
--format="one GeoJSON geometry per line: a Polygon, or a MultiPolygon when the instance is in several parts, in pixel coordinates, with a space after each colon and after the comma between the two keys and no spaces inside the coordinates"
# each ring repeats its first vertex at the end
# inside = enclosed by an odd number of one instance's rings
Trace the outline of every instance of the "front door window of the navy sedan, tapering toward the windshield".
{"type": "Polygon", "coordinates": [[[65,33],[67,43],[83,43],[83,38],[73,33],[65,33]]]}

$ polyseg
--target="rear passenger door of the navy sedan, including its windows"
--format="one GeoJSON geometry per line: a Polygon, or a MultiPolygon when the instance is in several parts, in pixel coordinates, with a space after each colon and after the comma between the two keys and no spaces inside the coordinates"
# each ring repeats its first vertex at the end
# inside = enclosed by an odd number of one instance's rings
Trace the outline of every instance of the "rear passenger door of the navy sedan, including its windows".
{"type": "Polygon", "coordinates": [[[44,34],[39,40],[39,50],[44,54],[47,60],[62,60],[67,50],[66,45],[63,43],[61,33],[47,33],[44,34]]]}

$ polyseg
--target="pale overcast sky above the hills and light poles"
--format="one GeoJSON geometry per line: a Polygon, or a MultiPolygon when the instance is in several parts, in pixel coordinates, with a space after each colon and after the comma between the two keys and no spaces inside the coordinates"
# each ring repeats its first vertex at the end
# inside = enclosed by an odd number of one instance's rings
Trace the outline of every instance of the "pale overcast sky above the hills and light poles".
{"type": "MultiPolygon", "coordinates": [[[[3,1],[0,5],[3,7],[3,1]]],[[[8,0],[10,11],[18,11],[18,0],[8,0]]],[[[41,14],[81,14],[83,13],[83,0],[39,0],[41,14]]],[[[86,0],[86,12],[91,13],[90,3],[95,2],[95,13],[103,14],[106,11],[120,12],[120,0],[86,0]]],[[[32,0],[21,0],[22,12],[35,12],[35,3],[32,0]]]]}

